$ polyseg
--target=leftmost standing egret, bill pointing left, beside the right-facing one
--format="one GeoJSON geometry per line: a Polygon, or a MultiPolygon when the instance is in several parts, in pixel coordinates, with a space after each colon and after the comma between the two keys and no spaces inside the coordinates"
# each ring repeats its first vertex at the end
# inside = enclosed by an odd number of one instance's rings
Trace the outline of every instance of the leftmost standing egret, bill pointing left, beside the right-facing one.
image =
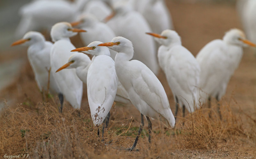
{"type": "MultiPolygon", "coordinates": [[[[44,36],[39,32],[30,31],[26,33],[21,40],[12,44],[12,46],[24,44],[28,46],[28,61],[35,74],[35,80],[41,92],[46,91],[48,88],[48,76],[50,70],[50,52],[52,42],[45,41],[44,36]]],[[[52,95],[60,92],[55,78],[50,72],[50,85],[49,91],[52,95]]]]}

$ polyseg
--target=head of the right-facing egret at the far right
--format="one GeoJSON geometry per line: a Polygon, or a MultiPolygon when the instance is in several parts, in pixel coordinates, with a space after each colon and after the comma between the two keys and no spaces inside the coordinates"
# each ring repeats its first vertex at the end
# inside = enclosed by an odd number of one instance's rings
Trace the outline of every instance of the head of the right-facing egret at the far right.
{"type": "Polygon", "coordinates": [[[238,45],[241,47],[256,47],[251,41],[246,40],[245,34],[243,31],[239,29],[231,29],[229,30],[223,37],[223,40],[232,45],[238,45]]]}

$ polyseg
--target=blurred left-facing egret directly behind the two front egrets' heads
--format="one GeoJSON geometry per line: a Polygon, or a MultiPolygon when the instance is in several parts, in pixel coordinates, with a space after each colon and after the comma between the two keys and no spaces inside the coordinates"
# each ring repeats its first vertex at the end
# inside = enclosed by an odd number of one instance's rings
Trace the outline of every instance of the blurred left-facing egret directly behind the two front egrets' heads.
{"type": "MultiPolygon", "coordinates": [[[[87,31],[87,33],[80,33],[80,37],[84,45],[89,45],[93,41],[108,42],[115,37],[115,33],[105,23],[100,22],[92,14],[82,14],[78,21],[71,23],[72,26],[77,26],[87,31]]],[[[112,59],[115,59],[116,51],[109,50],[112,59]]]]}

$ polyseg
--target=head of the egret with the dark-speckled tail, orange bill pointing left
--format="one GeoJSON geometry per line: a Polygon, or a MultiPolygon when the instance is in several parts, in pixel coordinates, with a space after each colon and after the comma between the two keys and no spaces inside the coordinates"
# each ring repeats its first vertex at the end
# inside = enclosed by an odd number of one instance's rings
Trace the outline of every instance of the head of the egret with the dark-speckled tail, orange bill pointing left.
{"type": "Polygon", "coordinates": [[[108,47],[99,47],[98,46],[99,44],[102,44],[102,42],[93,41],[87,47],[80,47],[80,48],[72,50],[72,52],[73,51],[82,51],[85,54],[91,54],[93,56],[98,56],[98,55],[110,56],[108,47]]]}

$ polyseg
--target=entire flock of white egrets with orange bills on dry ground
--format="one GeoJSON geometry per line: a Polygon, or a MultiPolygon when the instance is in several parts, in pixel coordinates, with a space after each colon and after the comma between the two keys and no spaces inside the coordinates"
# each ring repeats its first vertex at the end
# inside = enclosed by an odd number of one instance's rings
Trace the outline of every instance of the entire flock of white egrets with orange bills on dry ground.
{"type": "MultiPolygon", "coordinates": [[[[255,6],[255,2],[248,0],[241,6],[255,6]]],[[[167,127],[175,125],[164,87],[156,77],[159,66],[172,90],[175,117],[179,106],[184,116],[185,108],[194,112],[210,97],[220,100],[240,63],[242,47],[256,47],[241,30],[231,29],[194,57],[173,31],[164,0],[35,0],[23,6],[20,14],[16,36],[25,35],[12,46],[28,46],[28,60],[39,89],[47,90],[50,75],[49,91],[58,95],[62,112],[64,98],[74,108],[81,107],[86,83],[95,126],[108,126],[114,101],[132,103],[141,113],[141,124],[130,150],[136,147],[144,115],[149,142],[149,117],[160,119],[167,127]],[[42,28],[50,31],[54,43],[31,31],[42,28]],[[87,47],[75,48],[71,43],[69,38],[78,32],[87,47]],[[86,54],[93,55],[92,60],[86,54]]]]}

